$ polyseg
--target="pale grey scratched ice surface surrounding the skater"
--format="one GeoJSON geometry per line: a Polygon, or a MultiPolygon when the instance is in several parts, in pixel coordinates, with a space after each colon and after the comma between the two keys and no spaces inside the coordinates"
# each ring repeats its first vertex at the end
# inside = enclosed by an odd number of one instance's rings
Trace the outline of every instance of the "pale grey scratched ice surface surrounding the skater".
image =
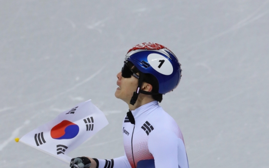
{"type": "Polygon", "coordinates": [[[88,99],[110,124],[70,156],[123,155],[116,74],[141,42],[182,64],[160,105],[190,168],[269,168],[269,0],[0,0],[0,167],[68,168],[14,138],[88,99]]]}

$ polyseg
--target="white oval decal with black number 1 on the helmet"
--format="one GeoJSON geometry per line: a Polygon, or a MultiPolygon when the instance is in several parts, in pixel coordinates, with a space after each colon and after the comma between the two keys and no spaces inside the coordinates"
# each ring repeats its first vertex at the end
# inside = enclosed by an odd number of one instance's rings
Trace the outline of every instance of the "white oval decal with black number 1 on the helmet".
{"type": "Polygon", "coordinates": [[[165,56],[156,53],[150,54],[148,62],[160,74],[171,75],[173,73],[173,66],[165,56]]]}

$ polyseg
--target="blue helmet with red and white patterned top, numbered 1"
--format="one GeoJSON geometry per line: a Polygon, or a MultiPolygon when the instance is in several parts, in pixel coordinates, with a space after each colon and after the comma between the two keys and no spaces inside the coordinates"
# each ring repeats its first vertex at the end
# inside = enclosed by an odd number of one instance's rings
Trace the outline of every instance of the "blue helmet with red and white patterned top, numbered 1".
{"type": "Polygon", "coordinates": [[[172,51],[160,44],[137,44],[128,51],[125,60],[132,62],[142,73],[154,75],[161,94],[173,91],[179,84],[181,64],[172,51]]]}

